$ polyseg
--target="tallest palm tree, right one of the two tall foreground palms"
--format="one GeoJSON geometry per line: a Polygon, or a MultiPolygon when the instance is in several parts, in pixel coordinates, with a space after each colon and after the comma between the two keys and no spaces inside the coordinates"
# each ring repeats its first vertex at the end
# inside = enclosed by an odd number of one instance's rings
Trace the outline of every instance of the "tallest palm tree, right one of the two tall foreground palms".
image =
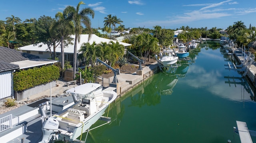
{"type": "MultiPolygon", "coordinates": [[[[74,8],[74,6],[67,6],[63,15],[74,22],[74,31],[75,31],[75,44],[74,44],[74,58],[73,58],[73,70],[74,78],[76,77],[76,60],[77,60],[77,42],[80,42],[80,34],[82,34],[84,24],[88,29],[91,29],[91,20],[88,15],[94,18],[94,11],[91,8],[83,8],[80,12],[80,5],[85,4],[84,2],[79,2],[74,8]]],[[[91,32],[92,30],[90,30],[91,32]]],[[[90,36],[89,36],[90,38],[90,36]]]]}

